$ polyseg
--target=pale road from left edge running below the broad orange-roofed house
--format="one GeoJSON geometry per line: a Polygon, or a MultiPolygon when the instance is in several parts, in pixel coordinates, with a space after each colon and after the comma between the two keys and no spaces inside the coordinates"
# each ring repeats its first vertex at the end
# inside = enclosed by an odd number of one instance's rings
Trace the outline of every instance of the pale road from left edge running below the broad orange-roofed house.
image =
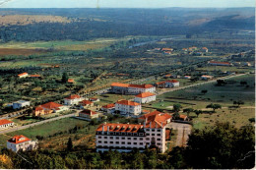
{"type": "Polygon", "coordinates": [[[7,129],[7,130],[2,130],[2,131],[0,131],[0,134],[8,134],[8,133],[12,133],[12,132],[15,132],[15,131],[28,129],[28,128],[31,128],[31,127],[34,127],[34,126],[37,126],[37,125],[45,124],[47,122],[52,122],[52,121],[56,121],[56,120],[59,120],[59,119],[72,117],[72,116],[75,116],[79,112],[80,112],[80,110],[77,110],[76,113],[63,115],[63,116],[58,116],[56,118],[51,118],[51,119],[47,119],[47,120],[44,120],[44,121],[35,122],[35,123],[30,124],[30,125],[25,125],[25,126],[21,126],[21,127],[14,127],[14,128],[10,128],[10,129],[7,129]]]}

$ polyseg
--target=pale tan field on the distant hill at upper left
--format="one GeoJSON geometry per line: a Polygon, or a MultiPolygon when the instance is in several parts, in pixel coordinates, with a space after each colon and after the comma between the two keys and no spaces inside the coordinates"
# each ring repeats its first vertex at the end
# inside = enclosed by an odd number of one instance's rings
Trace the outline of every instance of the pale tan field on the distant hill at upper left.
{"type": "Polygon", "coordinates": [[[10,16],[0,16],[0,26],[6,25],[30,25],[33,23],[70,23],[66,17],[60,16],[42,16],[42,15],[10,15],[10,16]]]}

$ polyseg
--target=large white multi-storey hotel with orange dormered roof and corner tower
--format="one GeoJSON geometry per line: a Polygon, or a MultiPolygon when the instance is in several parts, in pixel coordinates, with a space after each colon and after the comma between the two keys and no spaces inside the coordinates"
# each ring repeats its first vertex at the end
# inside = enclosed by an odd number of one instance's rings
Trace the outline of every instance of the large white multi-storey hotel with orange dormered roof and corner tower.
{"type": "Polygon", "coordinates": [[[104,123],[96,130],[96,151],[107,151],[110,148],[120,152],[128,152],[133,148],[144,150],[146,145],[158,146],[160,152],[166,150],[165,125],[171,116],[160,112],[144,116],[143,125],[104,123]]]}

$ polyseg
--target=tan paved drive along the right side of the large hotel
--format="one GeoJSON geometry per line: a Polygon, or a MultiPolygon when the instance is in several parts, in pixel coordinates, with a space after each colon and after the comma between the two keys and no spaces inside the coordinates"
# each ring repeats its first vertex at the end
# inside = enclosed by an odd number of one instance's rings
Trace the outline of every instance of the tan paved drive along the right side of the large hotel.
{"type": "Polygon", "coordinates": [[[166,128],[172,128],[173,130],[177,130],[177,139],[175,142],[175,146],[186,146],[188,136],[191,134],[192,130],[191,125],[171,122],[170,124],[166,125],[166,128]]]}

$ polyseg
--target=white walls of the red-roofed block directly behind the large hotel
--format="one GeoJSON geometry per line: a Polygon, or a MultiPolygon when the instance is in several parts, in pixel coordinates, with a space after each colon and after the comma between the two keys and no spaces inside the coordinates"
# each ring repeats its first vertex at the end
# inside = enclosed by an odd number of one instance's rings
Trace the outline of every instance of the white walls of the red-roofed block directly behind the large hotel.
{"type": "Polygon", "coordinates": [[[126,105],[126,104],[120,104],[115,103],[114,105],[115,110],[120,111],[121,114],[127,115],[127,114],[134,114],[139,115],[142,112],[142,105],[126,105]]]}

